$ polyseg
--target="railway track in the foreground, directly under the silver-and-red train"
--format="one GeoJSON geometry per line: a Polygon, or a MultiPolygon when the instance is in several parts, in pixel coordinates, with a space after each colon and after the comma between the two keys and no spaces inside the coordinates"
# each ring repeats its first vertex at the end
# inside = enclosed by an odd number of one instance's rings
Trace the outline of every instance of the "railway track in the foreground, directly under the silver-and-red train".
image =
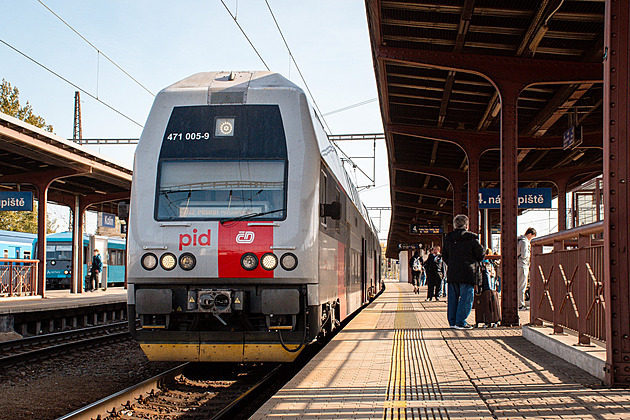
{"type": "Polygon", "coordinates": [[[185,414],[200,419],[233,419],[240,407],[274,380],[282,366],[231,365],[232,370],[225,371],[224,367],[217,372],[216,364],[199,368],[186,363],[58,420],[159,420],[185,414]],[[208,369],[213,373],[204,372],[208,369]]]}

